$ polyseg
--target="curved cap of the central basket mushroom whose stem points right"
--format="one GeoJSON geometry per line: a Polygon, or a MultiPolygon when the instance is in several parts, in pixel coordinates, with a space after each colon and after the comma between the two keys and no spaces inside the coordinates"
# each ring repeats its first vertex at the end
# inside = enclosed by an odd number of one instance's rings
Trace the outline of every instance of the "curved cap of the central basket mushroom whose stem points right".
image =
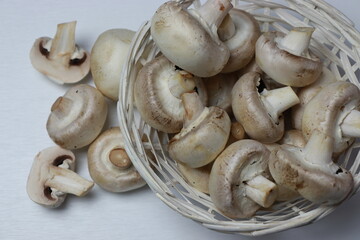
{"type": "Polygon", "coordinates": [[[272,119],[261,101],[257,85],[260,74],[249,72],[234,85],[231,92],[234,116],[250,138],[263,143],[272,143],[284,134],[284,119],[272,119]]]}

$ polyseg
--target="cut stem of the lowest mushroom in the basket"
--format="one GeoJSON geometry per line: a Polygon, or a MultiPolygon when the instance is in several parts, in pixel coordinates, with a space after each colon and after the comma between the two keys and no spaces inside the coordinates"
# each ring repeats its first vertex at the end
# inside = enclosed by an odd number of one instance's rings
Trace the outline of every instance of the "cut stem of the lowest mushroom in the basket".
{"type": "Polygon", "coordinates": [[[277,186],[262,175],[247,181],[245,193],[248,198],[262,207],[270,207],[277,197],[277,186]]]}

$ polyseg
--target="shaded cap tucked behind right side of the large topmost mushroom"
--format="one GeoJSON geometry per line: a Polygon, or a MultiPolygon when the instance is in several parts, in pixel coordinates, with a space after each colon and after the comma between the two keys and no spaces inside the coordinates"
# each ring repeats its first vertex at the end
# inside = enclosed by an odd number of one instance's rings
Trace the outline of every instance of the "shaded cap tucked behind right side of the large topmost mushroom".
{"type": "Polygon", "coordinates": [[[255,56],[255,44],[260,37],[260,26],[255,18],[240,9],[229,12],[235,25],[235,35],[224,41],[230,50],[230,58],[221,72],[235,72],[251,62],[255,56]]]}

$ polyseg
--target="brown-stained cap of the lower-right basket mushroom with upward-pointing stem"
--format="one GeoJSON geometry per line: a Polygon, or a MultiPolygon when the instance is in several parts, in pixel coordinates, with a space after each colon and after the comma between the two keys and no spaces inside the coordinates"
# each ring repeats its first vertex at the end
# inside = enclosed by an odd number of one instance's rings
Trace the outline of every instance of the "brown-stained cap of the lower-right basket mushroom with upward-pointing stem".
{"type": "Polygon", "coordinates": [[[297,191],[313,203],[340,203],[353,187],[352,175],[334,163],[315,165],[304,161],[303,148],[278,146],[271,151],[269,169],[278,185],[297,191]]]}

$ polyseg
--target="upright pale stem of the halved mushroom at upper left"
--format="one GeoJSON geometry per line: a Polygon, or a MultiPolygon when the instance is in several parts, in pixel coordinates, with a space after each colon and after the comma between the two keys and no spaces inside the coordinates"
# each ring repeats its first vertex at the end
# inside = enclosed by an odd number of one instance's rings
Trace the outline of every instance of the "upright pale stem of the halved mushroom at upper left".
{"type": "Polygon", "coordinates": [[[75,52],[76,21],[57,25],[57,31],[51,43],[49,58],[60,58],[68,65],[75,52]]]}

